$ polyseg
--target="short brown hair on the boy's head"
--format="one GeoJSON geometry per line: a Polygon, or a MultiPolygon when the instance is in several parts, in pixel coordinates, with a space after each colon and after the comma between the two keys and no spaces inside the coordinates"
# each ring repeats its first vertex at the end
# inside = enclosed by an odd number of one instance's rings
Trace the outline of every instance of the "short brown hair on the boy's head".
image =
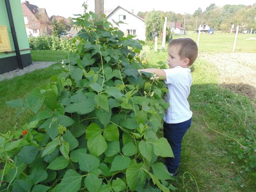
{"type": "Polygon", "coordinates": [[[192,65],[198,55],[198,47],[191,38],[175,38],[169,42],[168,47],[180,47],[179,56],[181,59],[188,58],[189,66],[192,65]]]}

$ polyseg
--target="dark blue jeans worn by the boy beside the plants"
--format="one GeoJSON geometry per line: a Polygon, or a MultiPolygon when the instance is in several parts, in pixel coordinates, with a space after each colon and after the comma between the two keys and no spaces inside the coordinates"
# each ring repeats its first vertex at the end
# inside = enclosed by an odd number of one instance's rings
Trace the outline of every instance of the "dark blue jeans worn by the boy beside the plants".
{"type": "Polygon", "coordinates": [[[166,138],[168,143],[171,145],[174,155],[174,158],[166,157],[165,159],[168,172],[170,173],[175,173],[178,170],[182,138],[190,125],[191,118],[186,122],[181,122],[179,124],[166,124],[166,122],[164,122],[164,138],[166,138]]]}

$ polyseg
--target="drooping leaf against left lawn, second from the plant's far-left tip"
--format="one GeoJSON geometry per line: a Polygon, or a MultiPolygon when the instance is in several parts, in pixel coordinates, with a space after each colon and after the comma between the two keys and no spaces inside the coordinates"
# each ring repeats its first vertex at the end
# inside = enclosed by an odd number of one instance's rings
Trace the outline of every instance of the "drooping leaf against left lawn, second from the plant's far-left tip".
{"type": "Polygon", "coordinates": [[[36,113],[44,103],[44,96],[40,92],[40,88],[35,88],[27,97],[29,108],[36,113]]]}

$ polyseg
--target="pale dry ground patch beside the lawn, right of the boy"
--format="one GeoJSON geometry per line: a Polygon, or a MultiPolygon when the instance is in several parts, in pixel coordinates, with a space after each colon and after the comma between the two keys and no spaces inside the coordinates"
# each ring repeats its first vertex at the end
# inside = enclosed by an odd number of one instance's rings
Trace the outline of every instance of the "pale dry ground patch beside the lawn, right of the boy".
{"type": "Polygon", "coordinates": [[[218,83],[232,92],[256,100],[256,54],[255,53],[202,53],[200,58],[214,64],[218,83]]]}

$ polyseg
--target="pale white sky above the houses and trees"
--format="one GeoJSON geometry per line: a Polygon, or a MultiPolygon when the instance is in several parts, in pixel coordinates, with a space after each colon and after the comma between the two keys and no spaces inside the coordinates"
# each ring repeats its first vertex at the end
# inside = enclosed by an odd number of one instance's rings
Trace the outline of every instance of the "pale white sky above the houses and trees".
{"type": "MultiPolygon", "coordinates": [[[[29,1],[29,0],[28,0],[29,1]]],[[[21,0],[20,2],[24,2],[21,0]]],[[[83,14],[82,4],[87,2],[88,10],[94,12],[95,0],[30,0],[30,4],[35,4],[38,8],[45,8],[48,17],[59,15],[65,17],[74,17],[74,14],[83,14]]],[[[216,6],[224,6],[225,4],[244,4],[252,5],[256,0],[104,0],[104,10],[108,12],[114,10],[117,6],[122,6],[127,11],[134,10],[138,12],[150,12],[152,10],[163,12],[174,12],[193,14],[198,8],[205,9],[211,4],[216,6]]]]}

